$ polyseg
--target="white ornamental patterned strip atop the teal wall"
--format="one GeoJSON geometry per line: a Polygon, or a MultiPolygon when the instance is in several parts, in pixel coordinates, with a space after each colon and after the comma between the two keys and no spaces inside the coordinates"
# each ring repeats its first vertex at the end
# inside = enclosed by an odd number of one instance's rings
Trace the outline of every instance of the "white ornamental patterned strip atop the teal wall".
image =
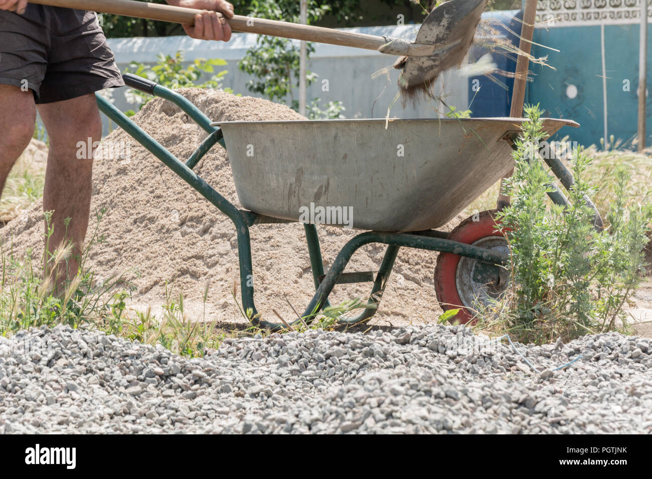
{"type": "MultiPolygon", "coordinates": [[[[640,1],[645,0],[539,0],[539,27],[615,25],[638,23],[640,1]]],[[[647,0],[647,22],[652,20],[652,0],[647,0]]]]}

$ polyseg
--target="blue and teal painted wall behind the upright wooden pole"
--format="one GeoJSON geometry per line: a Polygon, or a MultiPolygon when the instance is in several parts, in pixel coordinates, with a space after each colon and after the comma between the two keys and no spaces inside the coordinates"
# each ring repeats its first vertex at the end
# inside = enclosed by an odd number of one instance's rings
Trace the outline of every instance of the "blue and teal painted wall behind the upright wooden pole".
{"type": "MultiPolygon", "coordinates": [[[[511,23],[511,29],[520,31],[520,23],[514,25],[505,13],[503,22],[511,23]]],[[[606,68],[607,135],[630,142],[636,137],[638,115],[638,25],[605,25],[604,55],[606,68]],[[629,81],[625,91],[623,81],[629,81]]],[[[512,36],[514,44],[518,40],[512,36]]],[[[599,144],[604,137],[604,89],[602,87],[602,46],[600,26],[550,27],[535,29],[532,54],[535,57],[548,55],[548,66],[530,63],[533,81],[528,83],[526,103],[541,104],[546,116],[573,119],[580,128],[565,126],[553,137],[569,136],[583,145],[599,144]],[[542,48],[545,45],[559,51],[542,48]],[[577,89],[575,98],[567,96],[569,85],[577,89]]],[[[652,35],[648,36],[648,85],[652,81],[652,35]]],[[[477,55],[477,53],[474,53],[477,55]]],[[[514,71],[514,59],[497,58],[499,68],[514,71]]],[[[474,117],[499,117],[509,113],[513,81],[505,81],[508,89],[487,85],[486,77],[477,77],[482,89],[475,97],[471,110],[474,117]],[[484,90],[484,91],[483,91],[484,90]],[[506,107],[507,106],[507,107],[506,107]]],[[[473,78],[469,79],[469,100],[473,78]]],[[[649,88],[649,86],[648,86],[649,88]]],[[[647,140],[652,143],[652,99],[647,100],[647,140]]]]}

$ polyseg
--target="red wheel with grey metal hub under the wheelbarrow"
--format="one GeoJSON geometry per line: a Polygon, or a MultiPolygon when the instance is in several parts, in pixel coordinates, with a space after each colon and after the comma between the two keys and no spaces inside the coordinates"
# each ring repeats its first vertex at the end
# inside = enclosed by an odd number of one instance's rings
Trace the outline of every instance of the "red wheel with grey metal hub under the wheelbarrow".
{"type": "MultiPolygon", "coordinates": [[[[497,210],[469,216],[455,227],[449,239],[509,253],[502,230],[496,230],[497,210]]],[[[440,253],[435,267],[435,291],[444,311],[458,309],[451,318],[466,324],[490,302],[499,298],[509,285],[509,274],[503,267],[452,253],[440,253]]]]}

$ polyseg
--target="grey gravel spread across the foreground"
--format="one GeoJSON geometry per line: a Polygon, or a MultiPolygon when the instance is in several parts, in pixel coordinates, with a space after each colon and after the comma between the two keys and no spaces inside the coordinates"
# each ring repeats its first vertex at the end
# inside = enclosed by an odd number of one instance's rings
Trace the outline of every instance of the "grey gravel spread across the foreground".
{"type": "Polygon", "coordinates": [[[652,431],[650,340],[516,346],[537,371],[441,325],[227,339],[202,359],[33,329],[0,338],[0,433],[652,431]]]}

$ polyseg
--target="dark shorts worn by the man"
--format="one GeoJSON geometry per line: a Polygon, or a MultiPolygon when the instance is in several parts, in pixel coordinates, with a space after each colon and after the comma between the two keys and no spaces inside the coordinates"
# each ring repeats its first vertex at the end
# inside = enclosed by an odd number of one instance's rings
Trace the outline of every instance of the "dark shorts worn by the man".
{"type": "Polygon", "coordinates": [[[31,89],[37,103],[125,84],[95,12],[33,3],[22,15],[0,10],[0,83],[31,89]]]}

